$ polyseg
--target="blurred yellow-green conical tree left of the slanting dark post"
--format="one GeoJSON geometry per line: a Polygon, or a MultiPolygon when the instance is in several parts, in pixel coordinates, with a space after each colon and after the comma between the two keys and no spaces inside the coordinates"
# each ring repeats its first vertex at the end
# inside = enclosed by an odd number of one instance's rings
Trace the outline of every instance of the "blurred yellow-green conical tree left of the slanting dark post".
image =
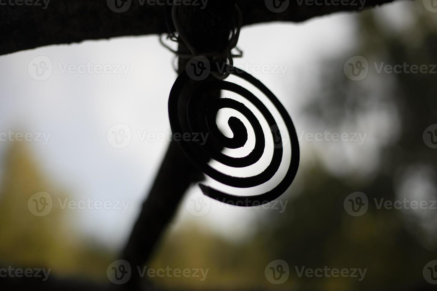
{"type": "Polygon", "coordinates": [[[42,174],[27,144],[11,143],[3,168],[7,170],[0,190],[0,265],[52,268],[58,275],[104,279],[111,254],[77,235],[75,218],[57,203],[66,193],[42,174]],[[37,192],[52,196],[47,216],[34,216],[28,209],[28,200],[37,192]]]}

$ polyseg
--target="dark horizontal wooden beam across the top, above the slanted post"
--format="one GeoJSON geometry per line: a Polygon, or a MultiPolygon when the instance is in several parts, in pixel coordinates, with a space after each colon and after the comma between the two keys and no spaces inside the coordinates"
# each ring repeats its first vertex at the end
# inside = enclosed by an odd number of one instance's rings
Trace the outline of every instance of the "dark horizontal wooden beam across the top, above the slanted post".
{"type": "MultiPolygon", "coordinates": [[[[108,0],[110,4],[114,1],[121,0],[108,0]]],[[[104,0],[56,0],[49,1],[46,7],[43,0],[40,0],[40,6],[0,6],[0,55],[43,45],[167,32],[164,17],[166,7],[156,3],[171,0],[124,1],[132,1],[132,4],[123,13],[112,11],[104,0]]],[[[191,1],[196,1],[200,7],[203,6],[202,0],[191,1]]],[[[305,0],[285,1],[290,1],[288,8],[282,13],[274,13],[267,9],[264,0],[239,0],[238,4],[243,12],[243,25],[271,21],[305,21],[312,17],[343,10],[358,10],[361,7],[358,0],[354,1],[357,5],[346,6],[326,5],[321,0],[321,6],[307,6],[305,0]]],[[[374,7],[392,1],[366,0],[364,7],[374,7]]],[[[208,1],[206,5],[210,5],[210,2],[212,1],[208,1]]]]}

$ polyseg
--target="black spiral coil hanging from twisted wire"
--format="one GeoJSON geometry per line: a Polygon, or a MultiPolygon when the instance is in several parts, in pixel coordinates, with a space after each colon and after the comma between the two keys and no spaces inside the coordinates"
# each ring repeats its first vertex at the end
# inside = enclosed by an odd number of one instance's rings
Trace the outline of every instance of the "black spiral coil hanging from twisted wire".
{"type": "MultiPolygon", "coordinates": [[[[212,70],[213,67],[214,66],[211,65],[212,70]]],[[[262,194],[237,196],[221,192],[203,184],[199,184],[199,186],[205,195],[225,203],[242,206],[265,204],[277,199],[281,194],[283,194],[295,178],[299,164],[299,144],[297,134],[293,122],[284,106],[282,106],[276,96],[274,96],[266,86],[243,70],[230,69],[229,71],[232,71],[232,75],[236,75],[247,82],[250,82],[253,86],[256,86],[265,96],[267,96],[268,99],[270,99],[276,107],[276,110],[280,113],[282,120],[284,120],[285,126],[287,127],[288,136],[290,138],[290,163],[281,182],[270,191],[262,194]]],[[[171,89],[168,103],[170,126],[173,134],[179,133],[183,135],[184,133],[208,133],[208,138],[206,139],[206,142],[204,141],[204,144],[202,144],[201,140],[180,140],[179,143],[185,154],[187,154],[187,156],[197,164],[206,175],[216,181],[236,188],[250,188],[264,184],[273,178],[279,169],[283,155],[282,137],[274,117],[260,99],[242,86],[214,78],[210,79],[205,81],[193,81],[188,77],[187,72],[183,72],[177,78],[171,89]],[[260,122],[252,111],[243,103],[234,99],[211,98],[210,92],[217,90],[231,91],[239,96],[243,96],[260,111],[263,118],[267,121],[271,129],[275,146],[270,164],[260,174],[251,177],[234,177],[222,173],[208,164],[210,159],[214,159],[219,163],[233,168],[248,167],[260,160],[263,156],[265,147],[264,132],[261,128],[260,122]],[[216,115],[218,111],[223,108],[237,110],[247,118],[253,128],[255,133],[255,145],[253,151],[245,157],[230,157],[222,153],[223,148],[236,149],[243,147],[248,138],[247,129],[243,122],[234,116],[230,117],[228,120],[233,137],[226,137],[222,134],[216,123],[216,115]]]]}

